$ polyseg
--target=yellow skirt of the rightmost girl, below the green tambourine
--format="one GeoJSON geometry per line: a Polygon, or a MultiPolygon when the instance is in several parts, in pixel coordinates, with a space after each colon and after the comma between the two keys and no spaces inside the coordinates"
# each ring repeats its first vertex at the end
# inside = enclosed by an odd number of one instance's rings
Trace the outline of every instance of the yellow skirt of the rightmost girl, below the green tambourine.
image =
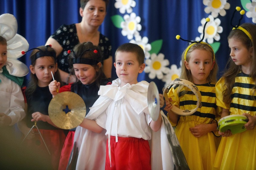
{"type": "Polygon", "coordinates": [[[222,137],[213,169],[256,169],[256,128],[222,137]]]}

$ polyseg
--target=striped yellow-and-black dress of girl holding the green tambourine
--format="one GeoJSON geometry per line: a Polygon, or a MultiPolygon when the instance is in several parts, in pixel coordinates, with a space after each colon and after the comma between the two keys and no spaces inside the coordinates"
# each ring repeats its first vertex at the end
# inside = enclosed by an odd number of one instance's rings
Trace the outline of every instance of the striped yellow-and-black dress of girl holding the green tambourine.
{"type": "MultiPolygon", "coordinates": [[[[230,115],[248,113],[256,116],[256,100],[251,98],[254,82],[249,75],[240,72],[236,76],[230,104],[222,101],[222,86],[225,86],[223,78],[216,84],[218,106],[229,109],[230,115]]],[[[223,137],[214,167],[215,169],[256,169],[256,128],[223,137]]]]}

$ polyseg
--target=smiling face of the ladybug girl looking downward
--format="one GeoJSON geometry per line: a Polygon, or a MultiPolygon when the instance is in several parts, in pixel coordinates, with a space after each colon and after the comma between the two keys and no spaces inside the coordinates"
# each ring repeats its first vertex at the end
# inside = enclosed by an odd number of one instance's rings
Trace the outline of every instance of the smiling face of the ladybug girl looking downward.
{"type": "MultiPolygon", "coordinates": [[[[99,68],[101,63],[97,64],[99,68]]],[[[95,81],[96,70],[89,64],[73,64],[75,75],[82,84],[91,84],[95,81]]]]}

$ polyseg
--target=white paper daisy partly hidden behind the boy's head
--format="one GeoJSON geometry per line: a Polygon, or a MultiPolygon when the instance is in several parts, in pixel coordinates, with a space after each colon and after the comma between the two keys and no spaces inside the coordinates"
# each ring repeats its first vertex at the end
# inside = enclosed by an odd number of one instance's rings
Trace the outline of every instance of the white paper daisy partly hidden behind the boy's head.
{"type": "Polygon", "coordinates": [[[149,59],[150,54],[148,51],[151,50],[151,44],[148,44],[148,37],[141,38],[141,36],[139,35],[135,37],[135,40],[130,40],[130,43],[138,44],[139,46],[141,46],[141,48],[144,50],[145,58],[149,59]]]}

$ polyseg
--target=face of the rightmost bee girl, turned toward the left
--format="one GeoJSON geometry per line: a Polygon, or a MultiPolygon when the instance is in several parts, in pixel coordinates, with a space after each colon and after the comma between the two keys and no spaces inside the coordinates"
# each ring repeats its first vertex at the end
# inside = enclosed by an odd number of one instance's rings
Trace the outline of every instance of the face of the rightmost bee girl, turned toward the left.
{"type": "Polygon", "coordinates": [[[237,66],[241,65],[243,68],[250,68],[250,56],[252,56],[252,52],[248,51],[248,49],[242,44],[241,41],[238,41],[234,38],[230,38],[228,40],[228,45],[230,48],[230,57],[235,62],[237,66]]]}

